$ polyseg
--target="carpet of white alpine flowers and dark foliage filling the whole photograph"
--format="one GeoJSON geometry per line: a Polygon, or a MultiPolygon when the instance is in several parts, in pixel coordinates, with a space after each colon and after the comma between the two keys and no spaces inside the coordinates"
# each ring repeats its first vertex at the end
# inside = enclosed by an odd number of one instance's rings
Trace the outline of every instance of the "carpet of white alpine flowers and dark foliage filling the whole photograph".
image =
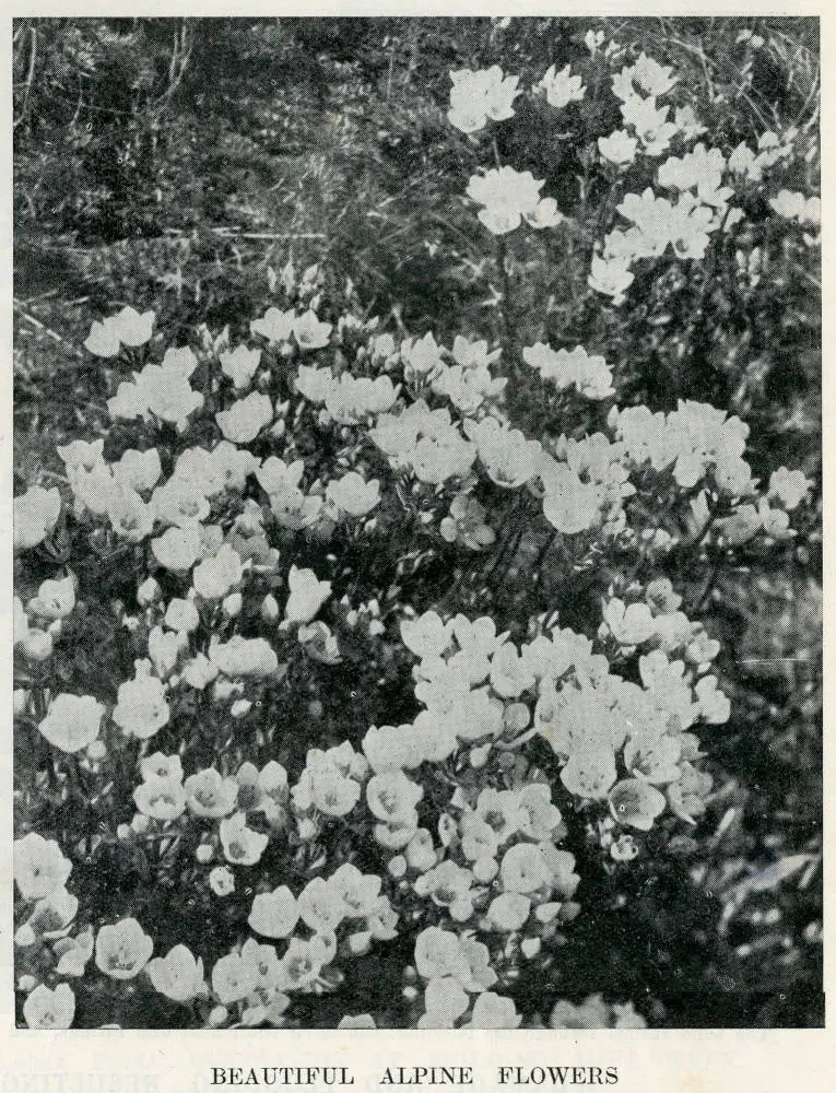
{"type": "Polygon", "coordinates": [[[15,38],[19,1020],[816,1023],[810,27],[207,23],[15,38]]]}

